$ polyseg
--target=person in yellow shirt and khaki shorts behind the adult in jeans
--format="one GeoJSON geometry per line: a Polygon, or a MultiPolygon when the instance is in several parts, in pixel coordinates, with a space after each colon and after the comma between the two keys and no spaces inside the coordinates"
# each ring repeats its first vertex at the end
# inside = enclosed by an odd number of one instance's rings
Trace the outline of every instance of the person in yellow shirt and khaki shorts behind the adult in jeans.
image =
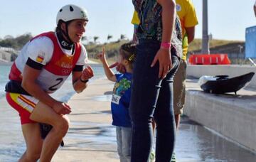
{"type": "Polygon", "coordinates": [[[188,53],[188,44],[193,41],[195,36],[195,26],[198,24],[196,11],[191,0],[176,0],[176,12],[181,21],[182,35],[183,35],[183,55],[181,63],[174,76],[174,114],[176,121],[176,128],[180,122],[181,114],[185,104],[186,92],[186,56],[188,53]]]}

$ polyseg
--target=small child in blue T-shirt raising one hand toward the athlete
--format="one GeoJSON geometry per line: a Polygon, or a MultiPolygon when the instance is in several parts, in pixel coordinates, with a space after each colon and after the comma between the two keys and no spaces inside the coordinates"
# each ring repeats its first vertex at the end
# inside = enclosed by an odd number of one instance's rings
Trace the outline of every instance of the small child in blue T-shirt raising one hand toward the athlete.
{"type": "Polygon", "coordinates": [[[114,74],[105,58],[105,50],[98,54],[107,79],[115,82],[111,101],[112,125],[117,131],[117,152],[121,162],[131,161],[132,123],[129,117],[132,69],[135,58],[135,43],[124,43],[119,50],[118,63],[125,68],[124,74],[114,74]]]}

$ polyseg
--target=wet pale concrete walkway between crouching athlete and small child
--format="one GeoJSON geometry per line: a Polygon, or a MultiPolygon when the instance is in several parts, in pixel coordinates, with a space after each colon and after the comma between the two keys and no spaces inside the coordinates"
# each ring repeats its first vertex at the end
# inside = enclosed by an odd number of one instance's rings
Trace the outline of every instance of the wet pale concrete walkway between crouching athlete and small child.
{"type": "Polygon", "coordinates": [[[96,80],[69,100],[70,129],[64,139],[65,146],[58,149],[53,161],[119,161],[115,129],[111,125],[113,86],[107,79],[96,80]]]}

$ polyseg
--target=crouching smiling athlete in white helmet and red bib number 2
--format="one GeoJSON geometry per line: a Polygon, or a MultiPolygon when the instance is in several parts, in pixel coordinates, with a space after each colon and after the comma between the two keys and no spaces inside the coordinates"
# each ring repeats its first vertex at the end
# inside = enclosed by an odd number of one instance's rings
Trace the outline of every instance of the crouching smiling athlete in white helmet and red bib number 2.
{"type": "Polygon", "coordinates": [[[83,69],[87,53],[80,43],[88,18],[84,9],[63,6],[56,18],[56,31],[42,33],[26,43],[16,58],[6,85],[7,102],[21,117],[26,151],[19,161],[50,161],[68,131],[68,104],[50,97],[72,74],[73,88],[82,92],[93,76],[83,69]],[[46,139],[38,123],[50,124],[46,139]]]}

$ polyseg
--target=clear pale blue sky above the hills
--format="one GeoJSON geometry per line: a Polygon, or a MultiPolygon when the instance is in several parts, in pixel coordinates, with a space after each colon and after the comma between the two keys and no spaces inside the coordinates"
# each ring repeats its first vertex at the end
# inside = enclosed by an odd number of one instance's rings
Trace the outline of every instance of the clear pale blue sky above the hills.
{"type": "MultiPolygon", "coordinates": [[[[121,34],[132,39],[132,0],[0,0],[0,38],[31,33],[36,36],[55,29],[58,10],[66,4],[82,6],[89,22],[85,36],[101,43],[117,41],[121,34]]],[[[192,0],[198,16],[196,38],[202,37],[202,1],[192,0]]],[[[208,33],[214,39],[245,41],[245,28],[256,26],[255,0],[208,0],[208,33]]]]}

